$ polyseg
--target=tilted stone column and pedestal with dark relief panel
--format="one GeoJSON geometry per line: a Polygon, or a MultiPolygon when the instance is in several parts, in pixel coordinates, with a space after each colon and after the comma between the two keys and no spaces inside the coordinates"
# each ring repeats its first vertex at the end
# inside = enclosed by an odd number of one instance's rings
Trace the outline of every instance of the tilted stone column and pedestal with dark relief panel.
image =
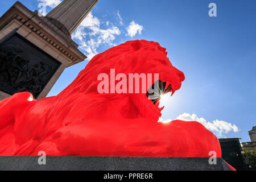
{"type": "Polygon", "coordinates": [[[99,0],[64,0],[46,16],[17,1],[0,18],[0,100],[47,96],[65,68],[86,56],[71,34],[99,0]]]}

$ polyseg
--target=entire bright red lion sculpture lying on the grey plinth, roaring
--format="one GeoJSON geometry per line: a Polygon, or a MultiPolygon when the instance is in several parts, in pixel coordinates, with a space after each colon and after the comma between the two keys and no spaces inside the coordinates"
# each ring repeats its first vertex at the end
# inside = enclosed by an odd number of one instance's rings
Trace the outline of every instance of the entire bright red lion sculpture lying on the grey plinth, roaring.
{"type": "MultiPolygon", "coordinates": [[[[55,97],[28,92],[0,102],[0,155],[209,157],[217,137],[199,122],[159,123],[158,98],[97,91],[100,73],[159,73],[164,92],[184,81],[158,43],[135,40],[100,53],[55,97]]],[[[151,85],[147,85],[150,89],[151,85]]]]}

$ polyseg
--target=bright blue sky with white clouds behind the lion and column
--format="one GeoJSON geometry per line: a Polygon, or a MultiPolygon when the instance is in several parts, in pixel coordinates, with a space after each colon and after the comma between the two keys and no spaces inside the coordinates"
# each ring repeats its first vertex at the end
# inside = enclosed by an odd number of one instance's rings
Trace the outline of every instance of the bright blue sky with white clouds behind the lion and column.
{"type": "MultiPolygon", "coordinates": [[[[60,0],[20,0],[30,10],[60,0]]],[[[1,1],[0,14],[15,1],[1,1]]],[[[89,57],[127,40],[146,39],[167,48],[185,81],[164,100],[163,120],[193,119],[220,138],[250,141],[256,125],[256,1],[100,0],[74,32],[89,57]],[[217,17],[210,17],[209,3],[217,17]],[[185,114],[184,114],[185,113],[185,114]]],[[[48,96],[69,85],[89,60],[65,69],[48,96]]]]}

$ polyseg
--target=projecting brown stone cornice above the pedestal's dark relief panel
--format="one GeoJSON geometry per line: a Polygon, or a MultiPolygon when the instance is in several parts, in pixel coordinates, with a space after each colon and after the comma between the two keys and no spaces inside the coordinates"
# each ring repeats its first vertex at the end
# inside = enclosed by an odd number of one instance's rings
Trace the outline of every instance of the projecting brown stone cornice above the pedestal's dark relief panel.
{"type": "Polygon", "coordinates": [[[22,23],[23,26],[35,32],[41,39],[51,44],[52,48],[57,49],[63,55],[67,56],[70,60],[68,67],[86,59],[86,56],[77,49],[78,45],[73,42],[73,40],[68,38],[64,33],[61,34],[59,28],[53,23],[49,22],[47,19],[42,20],[42,17],[35,14],[38,14],[38,12],[32,12],[20,2],[16,2],[1,16],[0,31],[15,19],[22,23]]]}

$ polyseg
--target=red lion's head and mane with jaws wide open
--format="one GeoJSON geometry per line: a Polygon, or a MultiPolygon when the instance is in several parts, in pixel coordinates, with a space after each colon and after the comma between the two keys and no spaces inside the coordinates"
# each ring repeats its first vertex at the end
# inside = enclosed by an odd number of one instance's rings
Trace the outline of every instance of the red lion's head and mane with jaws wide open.
{"type": "MultiPolygon", "coordinates": [[[[75,81],[57,96],[57,100],[67,100],[65,107],[72,106],[72,118],[66,122],[87,118],[147,118],[150,121],[158,121],[161,115],[159,98],[141,92],[98,93],[97,88],[101,82],[98,75],[106,73],[110,77],[110,69],[115,69],[115,75],[123,73],[127,78],[129,73],[159,73],[159,86],[163,87],[164,93],[174,93],[184,81],[183,72],[172,66],[166,49],[160,47],[159,43],[146,40],[126,42],[93,57],[75,81]],[[78,118],[73,118],[73,115],[78,118]]],[[[118,81],[115,85],[117,83],[118,81]]],[[[147,84],[147,90],[151,86],[152,84],[147,84]]]]}

